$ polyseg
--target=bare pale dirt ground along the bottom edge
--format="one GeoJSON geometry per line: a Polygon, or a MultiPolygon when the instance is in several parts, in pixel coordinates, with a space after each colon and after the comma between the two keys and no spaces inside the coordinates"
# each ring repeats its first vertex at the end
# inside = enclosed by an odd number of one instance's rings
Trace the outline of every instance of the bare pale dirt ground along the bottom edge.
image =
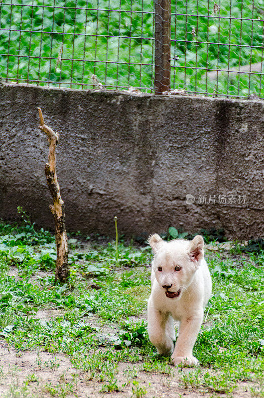
{"type": "MultiPolygon", "coordinates": [[[[36,317],[49,319],[58,316],[59,311],[38,311],[36,317]]],[[[189,372],[183,369],[183,372],[189,372]]],[[[184,389],[176,368],[172,367],[172,375],[143,371],[141,363],[129,364],[121,362],[116,375],[121,391],[102,392],[102,382],[96,378],[89,380],[87,372],[72,366],[69,358],[60,353],[50,354],[36,351],[16,351],[5,341],[0,341],[0,398],[195,398],[195,397],[234,397],[250,398],[250,384],[241,383],[232,394],[208,393],[188,388],[184,389]],[[138,384],[133,392],[133,383],[138,384]],[[142,392],[143,391],[143,392],[142,392]]]]}

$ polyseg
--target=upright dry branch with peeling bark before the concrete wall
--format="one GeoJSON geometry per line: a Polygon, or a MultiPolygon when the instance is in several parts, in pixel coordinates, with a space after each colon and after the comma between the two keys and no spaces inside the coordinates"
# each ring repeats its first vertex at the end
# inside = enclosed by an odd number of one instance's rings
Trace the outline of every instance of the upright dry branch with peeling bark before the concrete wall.
{"type": "Polygon", "coordinates": [[[49,208],[53,214],[55,222],[55,238],[57,246],[57,261],[56,261],[56,275],[55,280],[65,283],[69,277],[69,264],[68,264],[68,243],[65,228],[65,209],[64,201],[60,196],[60,187],[56,173],[56,144],[58,143],[59,134],[44,123],[42,111],[38,108],[40,130],[47,134],[49,142],[49,162],[45,164],[45,174],[47,184],[53,199],[53,205],[50,204],[49,208]]]}

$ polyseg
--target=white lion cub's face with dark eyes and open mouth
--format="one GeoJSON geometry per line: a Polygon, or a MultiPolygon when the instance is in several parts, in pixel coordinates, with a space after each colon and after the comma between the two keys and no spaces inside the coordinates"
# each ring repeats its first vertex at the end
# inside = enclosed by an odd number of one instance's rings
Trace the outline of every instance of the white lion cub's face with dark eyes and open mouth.
{"type": "Polygon", "coordinates": [[[195,271],[204,256],[203,238],[164,242],[157,234],[149,238],[154,252],[152,269],[159,286],[168,298],[180,297],[191,284],[195,271]]]}

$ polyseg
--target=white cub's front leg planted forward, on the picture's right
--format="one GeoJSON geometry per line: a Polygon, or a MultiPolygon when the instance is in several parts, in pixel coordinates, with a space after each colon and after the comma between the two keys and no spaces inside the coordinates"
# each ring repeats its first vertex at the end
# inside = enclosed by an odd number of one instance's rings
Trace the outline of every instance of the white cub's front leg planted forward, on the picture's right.
{"type": "Polygon", "coordinates": [[[179,335],[171,356],[175,365],[180,363],[190,366],[199,364],[198,359],[192,355],[192,350],[203,321],[203,310],[200,312],[195,316],[182,319],[180,323],[179,335]]]}

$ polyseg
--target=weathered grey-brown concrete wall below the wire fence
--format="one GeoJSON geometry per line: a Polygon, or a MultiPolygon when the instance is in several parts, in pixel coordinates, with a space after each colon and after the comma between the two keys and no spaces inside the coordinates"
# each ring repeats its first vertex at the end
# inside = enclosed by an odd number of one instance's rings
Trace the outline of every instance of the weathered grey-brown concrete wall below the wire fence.
{"type": "Polygon", "coordinates": [[[23,206],[53,228],[48,144],[37,106],[60,132],[57,171],[68,230],[138,235],[170,225],[263,236],[264,101],[0,86],[0,217],[23,206]],[[186,204],[186,194],[196,202],[186,204]],[[199,204],[198,197],[246,195],[199,204]],[[229,200],[230,201],[230,200],[229,200]]]}

